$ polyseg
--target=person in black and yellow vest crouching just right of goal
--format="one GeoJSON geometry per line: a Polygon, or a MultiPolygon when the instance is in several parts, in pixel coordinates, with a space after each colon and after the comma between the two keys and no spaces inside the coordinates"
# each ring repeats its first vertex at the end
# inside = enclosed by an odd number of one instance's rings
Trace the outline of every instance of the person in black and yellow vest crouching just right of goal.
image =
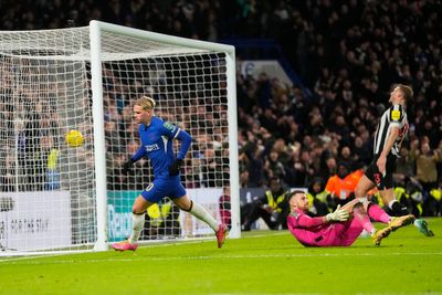
{"type": "Polygon", "coordinates": [[[250,231],[259,218],[262,218],[271,230],[285,229],[288,214],[287,193],[280,179],[272,178],[264,196],[241,208],[245,215],[242,230],[250,231]]]}

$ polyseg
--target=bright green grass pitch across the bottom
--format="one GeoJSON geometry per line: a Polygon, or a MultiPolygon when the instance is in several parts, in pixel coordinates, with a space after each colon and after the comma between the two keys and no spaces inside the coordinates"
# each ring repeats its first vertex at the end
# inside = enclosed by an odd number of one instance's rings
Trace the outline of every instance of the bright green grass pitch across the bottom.
{"type": "MultiPolygon", "coordinates": [[[[137,252],[1,257],[0,294],[442,294],[442,219],[380,247],[304,247],[287,231],[141,246],[137,252]]],[[[376,224],[380,228],[380,224],[376,224]]]]}

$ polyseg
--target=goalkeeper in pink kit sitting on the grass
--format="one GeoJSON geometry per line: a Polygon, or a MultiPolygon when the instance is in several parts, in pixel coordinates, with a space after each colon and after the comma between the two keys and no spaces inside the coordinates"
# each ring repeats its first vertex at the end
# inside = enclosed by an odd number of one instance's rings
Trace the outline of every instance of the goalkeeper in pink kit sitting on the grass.
{"type": "Polygon", "coordinates": [[[291,213],[287,218],[288,230],[305,246],[349,246],[362,230],[372,238],[375,245],[380,245],[383,238],[392,231],[413,222],[409,214],[400,218],[388,215],[377,204],[352,200],[343,208],[325,217],[311,218],[308,200],[304,191],[295,190],[288,197],[291,213]],[[388,226],[376,231],[370,218],[387,223],[388,226]]]}

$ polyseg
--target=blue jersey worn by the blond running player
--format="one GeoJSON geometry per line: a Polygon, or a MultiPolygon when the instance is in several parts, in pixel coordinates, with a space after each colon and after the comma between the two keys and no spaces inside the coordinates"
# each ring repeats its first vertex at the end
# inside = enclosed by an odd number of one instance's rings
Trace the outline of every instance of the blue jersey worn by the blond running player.
{"type": "Polygon", "coordinates": [[[192,140],[190,135],[156,116],[151,118],[149,126],[139,124],[138,131],[141,146],[131,158],[137,161],[146,156],[150,159],[155,178],[169,177],[169,166],[175,161],[172,139],[181,140],[177,158],[183,159],[192,140]]]}

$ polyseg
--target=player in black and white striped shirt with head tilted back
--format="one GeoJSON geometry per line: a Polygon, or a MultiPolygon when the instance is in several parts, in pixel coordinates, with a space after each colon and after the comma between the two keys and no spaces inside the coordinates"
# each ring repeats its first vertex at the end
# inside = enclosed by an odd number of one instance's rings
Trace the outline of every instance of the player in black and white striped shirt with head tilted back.
{"type": "MultiPolygon", "coordinates": [[[[397,84],[390,93],[389,103],[391,103],[391,106],[382,114],[375,134],[373,160],[355,190],[356,198],[364,200],[367,192],[377,187],[382,202],[397,217],[409,214],[407,207],[396,200],[393,172],[396,170],[396,160],[400,158],[400,149],[409,129],[406,106],[407,101],[411,99],[412,96],[412,88],[403,84],[397,84]]],[[[428,224],[423,219],[414,219],[413,224],[424,235],[434,235],[428,229],[428,224]]]]}

